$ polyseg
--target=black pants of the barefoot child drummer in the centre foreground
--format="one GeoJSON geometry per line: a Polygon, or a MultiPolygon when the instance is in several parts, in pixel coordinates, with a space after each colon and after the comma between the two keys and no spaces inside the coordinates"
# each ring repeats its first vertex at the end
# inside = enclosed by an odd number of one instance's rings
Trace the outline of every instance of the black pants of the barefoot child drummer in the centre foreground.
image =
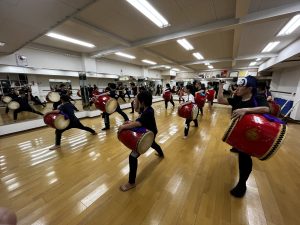
{"type": "MultiPolygon", "coordinates": [[[[154,141],[151,145],[151,148],[153,148],[160,156],[164,156],[164,153],[161,149],[161,147],[154,141]]],[[[136,171],[137,171],[137,166],[138,166],[138,157],[139,154],[134,154],[136,152],[132,152],[129,155],[129,181],[128,183],[130,184],[135,184],[135,179],[136,179],[136,171]]]]}

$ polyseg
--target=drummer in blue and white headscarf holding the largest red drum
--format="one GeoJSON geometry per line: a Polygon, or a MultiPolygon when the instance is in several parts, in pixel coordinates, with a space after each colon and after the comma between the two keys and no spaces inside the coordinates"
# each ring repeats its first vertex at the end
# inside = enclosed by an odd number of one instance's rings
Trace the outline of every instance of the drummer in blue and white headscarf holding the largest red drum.
{"type": "MultiPolygon", "coordinates": [[[[255,77],[247,76],[238,80],[237,84],[238,87],[233,98],[224,98],[223,84],[219,84],[218,103],[232,106],[232,118],[242,118],[249,113],[269,113],[270,110],[266,99],[257,95],[257,81],[255,77]]],[[[241,198],[247,190],[246,182],[252,171],[252,159],[250,155],[238,149],[235,150],[239,154],[239,181],[230,193],[234,197],[241,198]]]]}

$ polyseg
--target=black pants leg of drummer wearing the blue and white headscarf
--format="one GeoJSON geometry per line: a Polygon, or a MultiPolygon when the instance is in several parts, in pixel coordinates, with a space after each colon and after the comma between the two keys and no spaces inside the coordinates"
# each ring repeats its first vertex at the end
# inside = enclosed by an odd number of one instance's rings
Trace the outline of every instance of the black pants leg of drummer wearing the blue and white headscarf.
{"type": "Polygon", "coordinates": [[[252,158],[250,155],[240,152],[239,154],[239,182],[238,185],[246,186],[246,182],[252,171],[252,158]]]}

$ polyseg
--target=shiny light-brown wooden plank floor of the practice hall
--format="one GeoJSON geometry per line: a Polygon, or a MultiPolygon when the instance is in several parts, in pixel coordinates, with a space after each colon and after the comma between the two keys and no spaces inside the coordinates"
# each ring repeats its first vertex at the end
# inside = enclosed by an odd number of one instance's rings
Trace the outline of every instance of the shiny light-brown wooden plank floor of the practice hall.
{"type": "Polygon", "coordinates": [[[236,199],[229,190],[237,156],[221,141],[230,109],[206,107],[199,127],[192,126],[184,140],[184,119],[176,110],[166,111],[163,103],[154,108],[166,157],[151,150],[141,156],[137,187],[125,193],[119,186],[127,182],[129,150],[117,139],[119,114],[111,116],[107,132],[100,131],[100,117],[82,120],[99,134],[69,130],[61,151],[48,151],[51,128],[1,137],[1,206],[13,209],[20,225],[300,224],[299,125],[289,125],[273,158],[253,160],[246,196],[236,199]]]}

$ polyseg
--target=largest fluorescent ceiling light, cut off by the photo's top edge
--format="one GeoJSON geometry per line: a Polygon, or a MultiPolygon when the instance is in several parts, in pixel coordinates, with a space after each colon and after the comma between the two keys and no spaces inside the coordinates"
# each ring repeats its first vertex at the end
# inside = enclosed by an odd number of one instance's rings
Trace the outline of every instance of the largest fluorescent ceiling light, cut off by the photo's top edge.
{"type": "Polygon", "coordinates": [[[149,20],[158,27],[169,26],[169,22],[146,0],[127,0],[133,7],[143,13],[149,20]]]}

